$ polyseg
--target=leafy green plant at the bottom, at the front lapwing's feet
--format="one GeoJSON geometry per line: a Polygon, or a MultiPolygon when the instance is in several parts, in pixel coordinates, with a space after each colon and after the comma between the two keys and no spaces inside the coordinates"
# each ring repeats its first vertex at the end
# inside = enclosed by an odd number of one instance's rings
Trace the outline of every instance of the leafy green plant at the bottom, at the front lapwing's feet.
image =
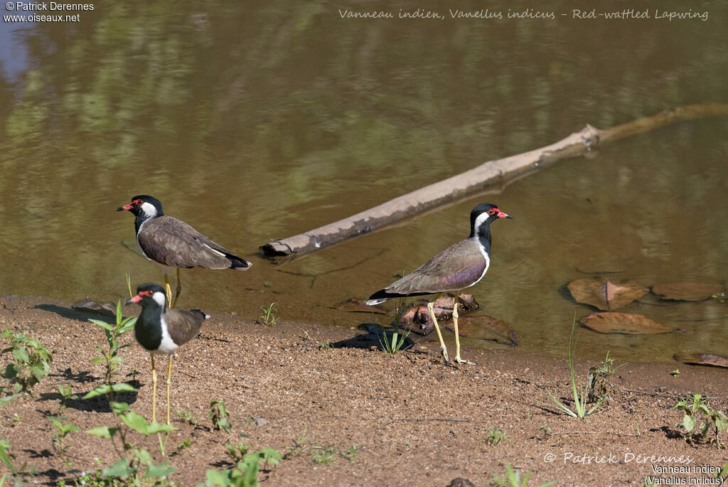
{"type": "MultiPolygon", "coordinates": [[[[143,416],[138,413],[129,411],[129,405],[126,403],[111,403],[111,409],[121,420],[121,424],[115,427],[100,426],[89,429],[87,433],[101,438],[111,440],[112,445],[122,456],[117,462],[101,470],[98,476],[110,482],[124,479],[124,486],[146,486],[150,483],[158,485],[162,483],[167,475],[175,472],[174,467],[169,466],[169,462],[155,465],[149,451],[138,448],[131,442],[132,432],[139,433],[144,436],[159,433],[168,433],[173,431],[173,427],[169,424],[149,423],[143,416]],[[119,440],[122,448],[117,446],[116,440],[119,440]]],[[[159,448],[164,452],[161,436],[159,437],[159,448]]]]}

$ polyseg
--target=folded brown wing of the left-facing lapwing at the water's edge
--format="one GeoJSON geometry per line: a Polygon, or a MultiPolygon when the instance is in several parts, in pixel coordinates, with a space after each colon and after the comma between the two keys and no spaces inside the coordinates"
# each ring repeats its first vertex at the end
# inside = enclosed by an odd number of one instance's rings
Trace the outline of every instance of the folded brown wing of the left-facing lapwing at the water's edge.
{"type": "Polygon", "coordinates": [[[138,240],[144,255],[165,266],[227,269],[231,265],[229,250],[171,216],[144,223],[138,240]]]}

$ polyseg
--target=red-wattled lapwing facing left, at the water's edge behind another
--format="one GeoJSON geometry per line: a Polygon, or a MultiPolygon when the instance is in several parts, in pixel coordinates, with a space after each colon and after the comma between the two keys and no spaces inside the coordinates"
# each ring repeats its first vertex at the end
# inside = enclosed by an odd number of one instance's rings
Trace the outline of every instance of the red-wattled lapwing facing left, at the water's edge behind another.
{"type": "Polygon", "coordinates": [[[177,218],[165,215],[159,199],[141,194],[132,198],[129,205],[116,211],[129,210],[135,215],[134,228],[141,252],[150,261],[162,266],[165,273],[167,306],[175,307],[182,292],[180,268],[204,267],[205,269],[249,269],[250,262],[240,258],[222,245],[193,229],[177,218]],[[177,269],[177,293],[172,302],[172,290],[167,272],[177,269]]]}

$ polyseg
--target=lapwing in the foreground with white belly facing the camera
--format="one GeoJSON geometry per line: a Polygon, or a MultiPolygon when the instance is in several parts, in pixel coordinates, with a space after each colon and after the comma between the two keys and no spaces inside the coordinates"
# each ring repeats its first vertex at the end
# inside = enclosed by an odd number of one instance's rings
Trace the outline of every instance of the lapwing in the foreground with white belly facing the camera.
{"type": "Polygon", "coordinates": [[[167,355],[167,424],[170,424],[170,384],[172,382],[172,354],[197,336],[202,322],[210,316],[201,309],[165,309],[167,293],[159,284],[142,284],[132,303],[141,305],[141,314],[134,325],[134,336],[149,350],[151,357],[151,421],[157,421],[157,369],[154,354],[167,355]]]}

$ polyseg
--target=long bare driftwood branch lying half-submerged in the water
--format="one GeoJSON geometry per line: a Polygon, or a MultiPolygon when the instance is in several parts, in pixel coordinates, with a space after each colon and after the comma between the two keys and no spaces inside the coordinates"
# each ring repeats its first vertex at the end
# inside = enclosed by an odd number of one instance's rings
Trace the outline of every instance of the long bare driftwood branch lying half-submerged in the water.
{"type": "Polygon", "coordinates": [[[600,144],[638,135],[665,127],[668,124],[719,115],[728,115],[728,105],[709,103],[682,106],[606,130],[597,130],[587,124],[580,132],[574,132],[550,146],[504,159],[484,162],[464,173],[404,194],[349,218],[320,226],[294,237],[273,240],[261,245],[261,250],[265,256],[269,257],[292,254],[300,256],[336,245],[357,235],[382,229],[434,207],[470,197],[483,191],[487,186],[513,181],[560,159],[580,156],[600,144]]]}

